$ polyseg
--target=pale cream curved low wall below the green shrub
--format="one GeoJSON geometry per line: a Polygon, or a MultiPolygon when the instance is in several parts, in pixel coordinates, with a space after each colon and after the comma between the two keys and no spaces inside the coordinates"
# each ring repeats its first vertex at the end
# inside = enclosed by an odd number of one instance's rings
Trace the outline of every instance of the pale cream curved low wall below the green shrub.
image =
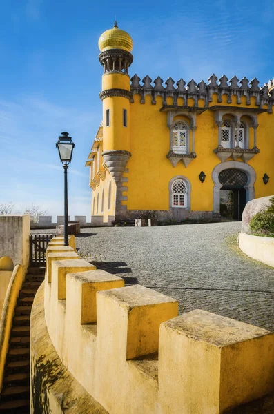
{"type": "Polygon", "coordinates": [[[239,248],[252,259],[274,267],[274,237],[239,233],[239,248]]]}

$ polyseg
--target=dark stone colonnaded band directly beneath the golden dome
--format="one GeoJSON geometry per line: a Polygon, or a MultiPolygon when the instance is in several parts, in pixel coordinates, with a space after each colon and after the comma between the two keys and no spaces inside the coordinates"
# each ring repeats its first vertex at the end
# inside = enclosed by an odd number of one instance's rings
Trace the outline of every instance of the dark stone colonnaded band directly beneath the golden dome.
{"type": "Polygon", "coordinates": [[[133,55],[122,49],[110,49],[101,52],[99,55],[104,73],[122,73],[128,75],[128,68],[133,63],[133,55]]]}

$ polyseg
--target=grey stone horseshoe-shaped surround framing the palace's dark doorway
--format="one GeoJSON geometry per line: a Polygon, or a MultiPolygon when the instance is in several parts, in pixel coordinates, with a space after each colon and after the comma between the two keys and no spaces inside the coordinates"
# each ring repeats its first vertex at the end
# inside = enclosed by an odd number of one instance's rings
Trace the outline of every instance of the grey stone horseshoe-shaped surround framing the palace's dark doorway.
{"type": "Polygon", "coordinates": [[[215,184],[213,188],[213,215],[215,215],[215,217],[219,217],[220,215],[220,190],[222,188],[222,184],[219,181],[219,173],[227,170],[228,168],[235,168],[246,173],[248,177],[248,181],[244,186],[246,189],[246,202],[255,199],[254,183],[256,180],[256,172],[253,167],[239,161],[226,161],[217,164],[212,172],[212,179],[215,184]]]}

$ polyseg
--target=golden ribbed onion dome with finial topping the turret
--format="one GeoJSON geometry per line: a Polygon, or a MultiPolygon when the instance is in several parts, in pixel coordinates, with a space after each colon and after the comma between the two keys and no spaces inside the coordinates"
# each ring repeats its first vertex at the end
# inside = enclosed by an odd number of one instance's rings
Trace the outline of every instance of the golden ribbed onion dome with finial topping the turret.
{"type": "Polygon", "coordinates": [[[98,46],[101,52],[110,49],[123,49],[127,52],[131,52],[131,50],[133,50],[133,39],[131,39],[127,32],[118,29],[115,21],[113,29],[106,30],[106,32],[101,34],[98,46]]]}

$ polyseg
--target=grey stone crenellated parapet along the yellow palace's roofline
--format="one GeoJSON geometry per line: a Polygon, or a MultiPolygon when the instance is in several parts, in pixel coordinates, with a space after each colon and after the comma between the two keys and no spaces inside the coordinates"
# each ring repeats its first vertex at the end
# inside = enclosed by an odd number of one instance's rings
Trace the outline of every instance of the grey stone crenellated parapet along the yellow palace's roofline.
{"type": "MultiPolygon", "coordinates": [[[[163,99],[163,106],[166,105],[167,98],[173,98],[173,105],[177,105],[178,98],[184,99],[184,106],[188,106],[188,99],[194,99],[194,106],[199,106],[198,101],[202,99],[204,101],[204,108],[208,108],[213,101],[213,94],[217,94],[217,102],[222,103],[223,95],[227,95],[227,103],[232,103],[232,96],[237,97],[237,104],[242,103],[242,97],[246,98],[246,105],[251,104],[251,97],[255,97],[255,104],[258,108],[263,108],[264,105],[268,106],[268,112],[272,113],[272,106],[274,105],[274,89],[268,88],[264,85],[259,87],[259,81],[254,78],[248,81],[244,77],[241,81],[234,76],[228,81],[228,77],[223,75],[221,78],[213,73],[208,78],[208,83],[200,81],[196,83],[193,79],[186,84],[184,79],[179,79],[175,86],[175,81],[170,77],[164,83],[163,79],[157,77],[152,85],[152,79],[146,75],[142,80],[143,84],[140,84],[141,78],[138,75],[134,75],[131,78],[130,90],[133,95],[141,95],[141,103],[145,103],[146,95],[151,96],[151,103],[156,103],[156,97],[161,96],[163,99]]],[[[134,96],[133,100],[134,101],[134,96]]]]}

